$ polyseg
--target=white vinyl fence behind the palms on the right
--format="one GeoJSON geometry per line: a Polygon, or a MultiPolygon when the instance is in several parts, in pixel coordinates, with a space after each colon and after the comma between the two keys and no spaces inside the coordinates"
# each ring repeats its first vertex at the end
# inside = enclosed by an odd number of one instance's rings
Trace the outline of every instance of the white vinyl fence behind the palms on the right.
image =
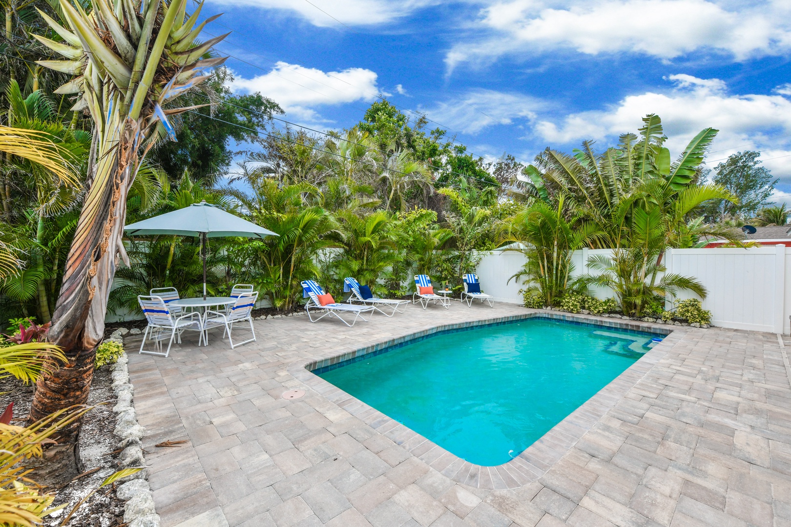
{"type": "MultiPolygon", "coordinates": [[[[611,254],[611,250],[576,250],[572,254],[574,276],[592,273],[589,258],[611,254]]],[[[712,314],[715,326],[735,329],[791,333],[791,247],[748,249],[671,249],[664,255],[668,273],[694,277],[708,295],[703,307],[712,314]]],[[[521,303],[521,280],[511,279],[524,265],[524,255],[513,250],[487,253],[478,265],[482,288],[501,302],[521,303]]],[[[612,296],[600,289],[599,298],[612,296]]],[[[680,292],[679,299],[694,298],[680,292]]],[[[669,307],[669,306],[668,306],[669,307]]]]}

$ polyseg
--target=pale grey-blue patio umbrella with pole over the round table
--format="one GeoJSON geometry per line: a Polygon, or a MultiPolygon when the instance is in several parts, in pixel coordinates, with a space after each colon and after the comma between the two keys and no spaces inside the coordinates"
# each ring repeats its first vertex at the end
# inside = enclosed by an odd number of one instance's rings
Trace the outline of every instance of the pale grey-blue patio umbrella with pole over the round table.
{"type": "Polygon", "coordinates": [[[201,258],[203,258],[203,299],[206,299],[206,238],[222,236],[244,236],[266,238],[277,233],[226,213],[214,205],[201,201],[184,209],[174,210],[138,221],[123,228],[127,235],[180,235],[200,236],[201,258]]]}

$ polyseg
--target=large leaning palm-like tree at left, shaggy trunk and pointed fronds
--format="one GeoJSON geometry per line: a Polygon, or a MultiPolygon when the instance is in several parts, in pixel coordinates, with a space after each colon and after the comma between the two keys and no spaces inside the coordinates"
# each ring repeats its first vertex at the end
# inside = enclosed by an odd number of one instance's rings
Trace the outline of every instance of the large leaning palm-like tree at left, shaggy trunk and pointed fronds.
{"type": "MultiPolygon", "coordinates": [[[[93,357],[104,333],[108,294],[116,259],[128,264],[122,235],[127,195],[142,158],[161,135],[175,140],[168,117],[190,110],[172,104],[225,58],[204,58],[227,34],[199,43],[202,4],[187,15],[187,0],[94,0],[86,10],[60,0],[62,23],[39,11],[62,41],[34,37],[64,60],[40,66],[73,78],[55,93],[75,96],[74,111],[93,120],[93,142],[74,241],[55,303],[50,330],[68,361],[36,382],[30,419],[84,403],[93,378],[93,357]]],[[[76,442],[79,422],[55,437],[48,458],[54,485],[81,472],[76,442]]]]}

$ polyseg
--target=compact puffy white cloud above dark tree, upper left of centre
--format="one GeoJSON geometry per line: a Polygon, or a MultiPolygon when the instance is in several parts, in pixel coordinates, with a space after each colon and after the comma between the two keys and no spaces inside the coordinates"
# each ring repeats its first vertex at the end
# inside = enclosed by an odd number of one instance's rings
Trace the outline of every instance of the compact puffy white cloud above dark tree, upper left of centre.
{"type": "Polygon", "coordinates": [[[379,93],[377,73],[363,68],[325,73],[315,68],[278,62],[265,75],[245,79],[235,75],[233,92],[261,92],[297,119],[316,122],[316,107],[371,101],[379,93]]]}

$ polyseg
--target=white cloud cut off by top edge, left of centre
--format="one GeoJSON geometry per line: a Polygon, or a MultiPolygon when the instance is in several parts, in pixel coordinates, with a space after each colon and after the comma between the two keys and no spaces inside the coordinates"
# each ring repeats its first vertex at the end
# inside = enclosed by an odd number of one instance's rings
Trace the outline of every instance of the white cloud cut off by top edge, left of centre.
{"type": "Polygon", "coordinates": [[[344,25],[375,25],[407,16],[436,0],[214,0],[229,6],[252,6],[296,13],[309,23],[330,28],[344,25]]]}

